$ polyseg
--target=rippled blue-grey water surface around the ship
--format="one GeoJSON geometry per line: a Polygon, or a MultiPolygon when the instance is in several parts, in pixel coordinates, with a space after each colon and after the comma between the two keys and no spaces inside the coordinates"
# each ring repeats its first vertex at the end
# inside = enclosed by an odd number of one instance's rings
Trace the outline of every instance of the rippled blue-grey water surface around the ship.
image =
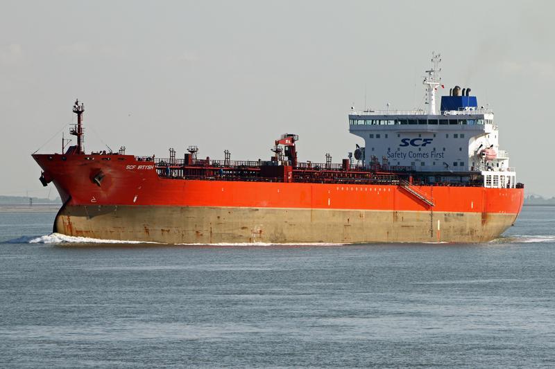
{"type": "Polygon", "coordinates": [[[552,207],[472,245],[76,243],[54,215],[0,213],[0,367],[555,366],[552,207]]]}

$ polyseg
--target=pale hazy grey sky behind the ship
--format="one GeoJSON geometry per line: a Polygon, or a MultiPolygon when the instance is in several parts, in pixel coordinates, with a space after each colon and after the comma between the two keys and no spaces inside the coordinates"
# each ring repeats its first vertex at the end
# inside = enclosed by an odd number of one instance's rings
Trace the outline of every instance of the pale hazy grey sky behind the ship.
{"type": "MultiPolygon", "coordinates": [[[[352,105],[424,107],[447,87],[489,104],[529,194],[555,196],[554,1],[1,1],[0,195],[46,197],[31,153],[60,152],[85,103],[85,147],[340,162],[352,105]],[[366,100],[366,103],[365,103],[366,100]],[[66,134],[67,136],[67,134],[66,134]],[[49,141],[50,140],[50,141],[49,141]]],[[[50,197],[56,193],[51,190],[50,197]]]]}

